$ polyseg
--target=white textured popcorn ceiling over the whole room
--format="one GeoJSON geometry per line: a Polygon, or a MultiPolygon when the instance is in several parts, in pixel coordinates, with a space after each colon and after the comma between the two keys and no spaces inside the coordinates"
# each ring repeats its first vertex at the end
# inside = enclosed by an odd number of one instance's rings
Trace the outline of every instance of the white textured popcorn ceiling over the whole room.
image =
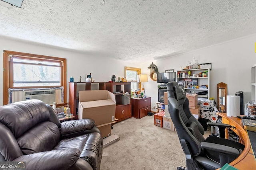
{"type": "Polygon", "coordinates": [[[256,33],[255,0],[24,0],[0,37],[136,62],[256,33]]]}

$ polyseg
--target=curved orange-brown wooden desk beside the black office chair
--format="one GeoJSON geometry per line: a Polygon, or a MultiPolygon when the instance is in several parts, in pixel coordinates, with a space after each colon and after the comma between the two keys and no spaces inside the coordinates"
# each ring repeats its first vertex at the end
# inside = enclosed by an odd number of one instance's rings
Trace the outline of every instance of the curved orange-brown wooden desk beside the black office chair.
{"type": "MultiPolygon", "coordinates": [[[[226,113],[217,113],[222,117],[222,123],[226,123],[232,126],[232,131],[234,131],[238,136],[240,143],[245,145],[244,151],[236,160],[230,163],[230,165],[238,168],[239,170],[251,170],[256,169],[256,160],[254,153],[252,151],[250,139],[246,130],[242,126],[242,121],[238,117],[227,116],[226,113]]],[[[244,116],[244,115],[241,115],[244,116]]],[[[228,137],[227,129],[225,131],[226,138],[228,137]]],[[[256,142],[256,141],[251,141],[256,142]]]]}

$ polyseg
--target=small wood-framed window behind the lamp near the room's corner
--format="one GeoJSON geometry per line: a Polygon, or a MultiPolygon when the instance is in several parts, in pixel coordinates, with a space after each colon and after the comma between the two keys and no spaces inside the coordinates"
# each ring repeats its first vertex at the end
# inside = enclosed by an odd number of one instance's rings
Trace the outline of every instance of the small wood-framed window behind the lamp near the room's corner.
{"type": "Polygon", "coordinates": [[[140,68],[125,67],[125,78],[128,82],[131,82],[132,92],[137,90],[140,92],[140,82],[138,82],[138,75],[140,74],[140,68]]]}

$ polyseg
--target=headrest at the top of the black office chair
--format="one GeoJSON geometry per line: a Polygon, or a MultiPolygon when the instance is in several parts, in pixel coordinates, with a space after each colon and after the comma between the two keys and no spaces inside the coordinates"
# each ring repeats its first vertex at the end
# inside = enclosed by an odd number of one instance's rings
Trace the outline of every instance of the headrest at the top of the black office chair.
{"type": "Polygon", "coordinates": [[[168,91],[173,92],[176,100],[186,98],[186,91],[183,86],[179,86],[177,82],[168,82],[168,91]]]}

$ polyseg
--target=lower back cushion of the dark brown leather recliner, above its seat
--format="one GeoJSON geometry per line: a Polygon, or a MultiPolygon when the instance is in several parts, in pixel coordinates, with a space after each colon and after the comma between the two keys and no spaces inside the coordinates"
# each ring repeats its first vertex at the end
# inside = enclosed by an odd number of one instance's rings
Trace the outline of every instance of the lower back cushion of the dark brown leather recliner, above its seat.
{"type": "Polygon", "coordinates": [[[55,123],[44,121],[26,131],[17,141],[24,154],[49,151],[60,141],[60,131],[55,123]]]}

